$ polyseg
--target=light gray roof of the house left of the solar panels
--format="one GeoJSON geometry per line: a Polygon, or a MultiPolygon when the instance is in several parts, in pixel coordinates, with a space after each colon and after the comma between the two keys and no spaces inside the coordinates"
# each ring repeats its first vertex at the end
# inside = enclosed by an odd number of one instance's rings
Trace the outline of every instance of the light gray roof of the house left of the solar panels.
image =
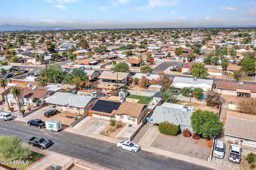
{"type": "Polygon", "coordinates": [[[67,105],[68,103],[68,106],[71,107],[84,108],[86,105],[97,99],[98,97],[56,92],[46,101],[46,103],[60,106],[67,105]]]}

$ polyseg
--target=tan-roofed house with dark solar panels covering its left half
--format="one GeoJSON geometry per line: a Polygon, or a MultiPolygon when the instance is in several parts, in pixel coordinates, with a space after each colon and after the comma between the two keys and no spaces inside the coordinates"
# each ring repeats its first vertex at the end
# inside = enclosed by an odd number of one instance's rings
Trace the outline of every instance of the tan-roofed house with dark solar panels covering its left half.
{"type": "Polygon", "coordinates": [[[130,125],[138,125],[148,114],[148,105],[98,99],[88,111],[88,116],[100,119],[114,119],[130,125]]]}

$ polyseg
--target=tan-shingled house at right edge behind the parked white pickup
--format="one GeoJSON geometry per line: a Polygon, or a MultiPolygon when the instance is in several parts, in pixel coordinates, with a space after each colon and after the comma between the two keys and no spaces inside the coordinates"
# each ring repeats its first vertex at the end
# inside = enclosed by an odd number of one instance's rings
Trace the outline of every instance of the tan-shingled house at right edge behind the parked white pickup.
{"type": "Polygon", "coordinates": [[[256,148],[255,125],[255,115],[228,111],[224,126],[225,141],[256,148]]]}

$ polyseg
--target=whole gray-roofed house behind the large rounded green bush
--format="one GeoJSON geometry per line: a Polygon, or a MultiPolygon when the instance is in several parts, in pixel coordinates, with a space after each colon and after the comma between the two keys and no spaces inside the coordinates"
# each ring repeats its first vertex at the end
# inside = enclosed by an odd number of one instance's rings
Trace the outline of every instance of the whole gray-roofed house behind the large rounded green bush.
{"type": "Polygon", "coordinates": [[[190,116],[193,111],[194,107],[188,105],[163,103],[160,106],[156,106],[154,109],[154,112],[149,119],[150,127],[168,121],[169,123],[179,126],[179,130],[181,131],[188,128],[192,132],[193,128],[191,126],[190,116]]]}

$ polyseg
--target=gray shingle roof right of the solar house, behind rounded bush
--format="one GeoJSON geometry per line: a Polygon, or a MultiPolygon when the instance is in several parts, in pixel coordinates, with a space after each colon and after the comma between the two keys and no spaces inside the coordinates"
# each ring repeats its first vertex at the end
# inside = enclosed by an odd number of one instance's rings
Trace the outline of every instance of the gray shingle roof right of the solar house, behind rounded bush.
{"type": "Polygon", "coordinates": [[[192,113],[192,111],[182,111],[180,109],[157,106],[150,117],[150,121],[154,123],[168,121],[174,125],[191,126],[190,116],[192,113]]]}

